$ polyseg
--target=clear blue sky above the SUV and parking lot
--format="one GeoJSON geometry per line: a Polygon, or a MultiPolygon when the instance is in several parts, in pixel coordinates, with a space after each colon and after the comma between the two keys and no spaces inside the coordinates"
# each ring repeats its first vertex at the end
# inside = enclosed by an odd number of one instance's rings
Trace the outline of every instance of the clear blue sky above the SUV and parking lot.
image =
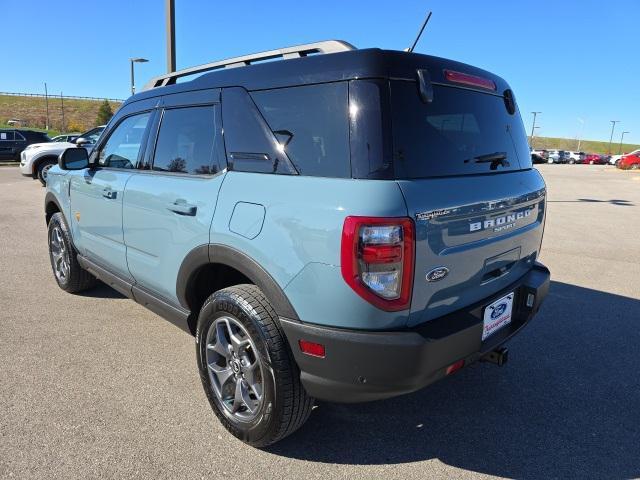
{"type": "MultiPolygon", "coordinates": [[[[614,141],[640,143],[638,0],[175,1],[178,68],[329,38],[400,50],[430,9],[416,51],[503,76],[527,132],[538,110],[536,135],[608,140],[621,120],[614,141]]],[[[126,98],[130,57],[150,60],[138,86],[166,70],[164,0],[0,5],[0,91],[126,98]]]]}

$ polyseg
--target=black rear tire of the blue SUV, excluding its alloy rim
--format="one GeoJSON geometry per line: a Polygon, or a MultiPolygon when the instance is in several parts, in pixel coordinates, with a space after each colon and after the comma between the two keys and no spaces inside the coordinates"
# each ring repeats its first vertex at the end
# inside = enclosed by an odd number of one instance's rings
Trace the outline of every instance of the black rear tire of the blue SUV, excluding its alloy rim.
{"type": "Polygon", "coordinates": [[[196,353],[202,385],[213,411],[234,436],[254,447],[266,447],[302,426],[313,407],[300,382],[278,316],[255,285],[242,284],[213,293],[204,303],[196,329],[196,353]],[[263,401],[258,414],[241,421],[230,414],[216,394],[207,364],[207,332],[216,319],[238,321],[254,342],[263,365],[263,401]]]}

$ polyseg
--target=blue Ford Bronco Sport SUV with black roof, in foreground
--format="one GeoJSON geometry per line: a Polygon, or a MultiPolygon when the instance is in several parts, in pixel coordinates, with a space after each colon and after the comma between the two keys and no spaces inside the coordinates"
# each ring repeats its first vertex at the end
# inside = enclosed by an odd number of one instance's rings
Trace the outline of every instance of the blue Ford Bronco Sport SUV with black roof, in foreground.
{"type": "Polygon", "coordinates": [[[194,335],[214,412],[262,447],[313,399],[502,363],[548,290],[545,199],[503,79],[328,41],[152,80],[60,155],[45,213],[58,285],[194,335]]]}

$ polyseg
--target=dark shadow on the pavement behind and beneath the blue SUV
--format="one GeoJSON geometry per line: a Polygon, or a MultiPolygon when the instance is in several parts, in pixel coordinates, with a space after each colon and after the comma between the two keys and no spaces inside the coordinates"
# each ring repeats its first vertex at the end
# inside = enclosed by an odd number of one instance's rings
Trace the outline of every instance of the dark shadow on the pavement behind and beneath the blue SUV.
{"type": "Polygon", "coordinates": [[[552,282],[505,367],[472,366],[392,400],[320,404],[269,451],[358,465],[437,458],[511,478],[638,477],[639,327],[639,300],[552,282]]]}

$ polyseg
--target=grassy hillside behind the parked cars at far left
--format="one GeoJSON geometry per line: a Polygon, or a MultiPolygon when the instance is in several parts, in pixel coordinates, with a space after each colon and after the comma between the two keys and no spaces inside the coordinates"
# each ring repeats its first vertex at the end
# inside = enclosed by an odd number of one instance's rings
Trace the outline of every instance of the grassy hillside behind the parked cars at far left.
{"type": "MultiPolygon", "coordinates": [[[[60,97],[49,97],[49,134],[57,132],[83,132],[96,126],[98,109],[104,100],[65,98],[64,123],[60,97]]],[[[115,112],[121,102],[110,101],[115,112]]],[[[44,129],[47,110],[44,97],[0,95],[0,126],[7,126],[10,119],[20,120],[20,127],[44,129]]]]}

